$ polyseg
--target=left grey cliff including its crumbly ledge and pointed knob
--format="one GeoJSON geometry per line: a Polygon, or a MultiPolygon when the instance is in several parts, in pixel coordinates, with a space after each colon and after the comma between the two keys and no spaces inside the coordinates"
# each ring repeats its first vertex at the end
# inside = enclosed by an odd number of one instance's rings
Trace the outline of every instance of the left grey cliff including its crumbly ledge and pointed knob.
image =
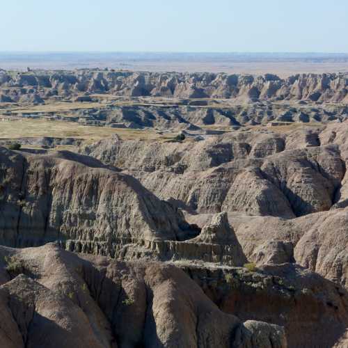
{"type": "Polygon", "coordinates": [[[0,148],[0,161],[3,245],[59,242],[70,251],[122,260],[246,262],[226,216],[213,227],[217,235],[228,236],[226,243],[196,240],[200,229],[190,226],[180,210],[134,177],[91,157],[72,152],[25,155],[0,148]]]}

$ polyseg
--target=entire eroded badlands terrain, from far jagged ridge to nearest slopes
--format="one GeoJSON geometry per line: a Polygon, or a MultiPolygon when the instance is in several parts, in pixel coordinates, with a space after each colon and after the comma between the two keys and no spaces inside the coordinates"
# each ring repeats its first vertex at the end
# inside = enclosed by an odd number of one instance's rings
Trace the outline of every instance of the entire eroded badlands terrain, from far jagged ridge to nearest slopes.
{"type": "Polygon", "coordinates": [[[347,82],[0,72],[0,347],[347,347],[347,82]]]}

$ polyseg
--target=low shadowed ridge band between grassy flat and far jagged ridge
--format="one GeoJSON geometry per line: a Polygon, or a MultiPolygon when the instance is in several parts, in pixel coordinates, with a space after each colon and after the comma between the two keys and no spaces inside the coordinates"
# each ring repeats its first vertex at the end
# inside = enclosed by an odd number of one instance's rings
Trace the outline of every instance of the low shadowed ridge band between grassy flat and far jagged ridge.
{"type": "MultiPolygon", "coordinates": [[[[95,99],[96,100],[96,99],[95,99]]],[[[154,98],[153,100],[156,100],[154,98]]],[[[196,102],[197,104],[198,102],[196,102]]],[[[134,103],[136,104],[136,103],[134,103]]],[[[241,125],[266,125],[269,122],[313,122],[329,123],[342,122],[347,119],[347,104],[313,104],[303,102],[272,103],[258,101],[242,105],[234,105],[230,100],[223,100],[210,104],[206,102],[201,106],[178,103],[171,105],[132,105],[108,106],[95,112],[84,110],[84,113],[74,112],[79,118],[92,118],[103,125],[110,127],[157,129],[197,129],[197,127],[239,127],[241,125]]],[[[88,120],[86,120],[88,122],[88,120]]]]}

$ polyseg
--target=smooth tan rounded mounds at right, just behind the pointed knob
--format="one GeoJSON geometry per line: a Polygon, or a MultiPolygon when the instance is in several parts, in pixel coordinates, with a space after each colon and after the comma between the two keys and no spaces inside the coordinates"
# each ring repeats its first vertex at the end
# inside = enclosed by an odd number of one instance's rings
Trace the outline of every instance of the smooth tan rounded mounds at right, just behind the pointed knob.
{"type": "Polygon", "coordinates": [[[290,220],[232,214],[229,221],[248,260],[296,262],[348,288],[347,219],[346,209],[333,209],[290,220]]]}

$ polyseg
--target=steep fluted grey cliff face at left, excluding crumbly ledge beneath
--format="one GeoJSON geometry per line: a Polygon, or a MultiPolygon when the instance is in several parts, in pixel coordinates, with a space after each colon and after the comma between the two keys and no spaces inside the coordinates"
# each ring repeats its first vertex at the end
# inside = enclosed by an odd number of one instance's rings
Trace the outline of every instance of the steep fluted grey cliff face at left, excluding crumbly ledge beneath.
{"type": "Polygon", "coordinates": [[[196,233],[180,212],[133,177],[91,158],[70,152],[24,155],[5,148],[0,156],[3,244],[82,239],[102,247],[122,238],[181,240],[196,233]]]}

